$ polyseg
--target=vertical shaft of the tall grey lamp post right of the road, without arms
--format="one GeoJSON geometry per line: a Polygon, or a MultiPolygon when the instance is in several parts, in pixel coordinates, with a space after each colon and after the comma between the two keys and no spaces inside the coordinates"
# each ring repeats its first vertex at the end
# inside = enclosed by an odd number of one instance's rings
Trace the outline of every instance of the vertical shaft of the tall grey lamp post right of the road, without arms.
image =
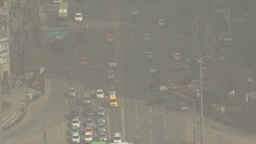
{"type": "Polygon", "coordinates": [[[200,94],[201,94],[201,144],[204,142],[204,128],[203,128],[203,123],[204,123],[204,116],[203,116],[203,93],[202,93],[202,55],[200,54],[200,59],[199,59],[199,68],[200,68],[200,94]]]}

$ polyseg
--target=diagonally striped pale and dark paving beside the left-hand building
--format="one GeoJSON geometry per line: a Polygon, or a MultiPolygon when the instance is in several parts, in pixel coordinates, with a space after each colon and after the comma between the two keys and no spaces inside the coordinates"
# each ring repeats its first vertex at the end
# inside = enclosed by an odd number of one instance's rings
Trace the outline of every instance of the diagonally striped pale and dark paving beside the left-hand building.
{"type": "MultiPolygon", "coordinates": [[[[11,83],[14,82],[15,75],[11,76],[11,83]]],[[[11,89],[7,94],[3,94],[2,98],[6,102],[10,103],[11,106],[3,112],[2,115],[2,126],[8,126],[19,118],[22,114],[22,107],[26,106],[26,84],[20,86],[22,76],[18,76],[14,89],[11,89]]],[[[27,94],[40,93],[32,88],[27,88],[27,94]]]]}

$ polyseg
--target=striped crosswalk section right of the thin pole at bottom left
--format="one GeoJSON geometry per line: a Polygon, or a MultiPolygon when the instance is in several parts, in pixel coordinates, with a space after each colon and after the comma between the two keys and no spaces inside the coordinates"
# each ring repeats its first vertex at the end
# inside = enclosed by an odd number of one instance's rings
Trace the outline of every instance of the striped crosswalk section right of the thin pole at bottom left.
{"type": "Polygon", "coordinates": [[[46,131],[46,144],[68,144],[68,122],[46,131]]]}

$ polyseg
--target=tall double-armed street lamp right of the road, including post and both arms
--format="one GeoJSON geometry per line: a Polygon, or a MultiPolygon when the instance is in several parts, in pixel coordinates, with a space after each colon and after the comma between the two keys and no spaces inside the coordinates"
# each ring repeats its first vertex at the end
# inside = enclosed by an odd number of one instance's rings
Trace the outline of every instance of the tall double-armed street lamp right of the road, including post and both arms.
{"type": "Polygon", "coordinates": [[[200,98],[200,106],[201,106],[201,144],[203,144],[204,142],[204,127],[203,127],[203,124],[204,124],[204,115],[203,115],[203,93],[202,93],[202,63],[204,63],[204,58],[211,58],[212,56],[204,56],[202,57],[201,54],[199,54],[200,58],[190,58],[188,59],[187,61],[190,61],[192,59],[196,59],[198,60],[198,63],[199,63],[199,68],[200,68],[200,95],[201,95],[201,98],[200,98]]]}

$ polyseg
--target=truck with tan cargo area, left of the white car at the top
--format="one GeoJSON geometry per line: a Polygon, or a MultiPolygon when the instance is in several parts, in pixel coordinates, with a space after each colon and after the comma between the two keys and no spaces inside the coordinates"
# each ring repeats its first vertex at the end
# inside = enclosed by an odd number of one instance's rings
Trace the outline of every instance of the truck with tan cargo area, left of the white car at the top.
{"type": "Polygon", "coordinates": [[[68,26],[68,2],[59,4],[58,21],[59,26],[68,26]]]}

